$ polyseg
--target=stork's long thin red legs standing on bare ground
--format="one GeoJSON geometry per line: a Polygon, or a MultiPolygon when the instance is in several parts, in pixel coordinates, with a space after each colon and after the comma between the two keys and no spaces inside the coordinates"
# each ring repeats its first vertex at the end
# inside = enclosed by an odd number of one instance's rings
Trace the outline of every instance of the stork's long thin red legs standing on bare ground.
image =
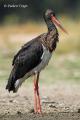
{"type": "Polygon", "coordinates": [[[40,104],[40,96],[39,96],[39,73],[37,74],[36,80],[34,79],[34,110],[37,113],[41,113],[41,104],[40,104]]]}

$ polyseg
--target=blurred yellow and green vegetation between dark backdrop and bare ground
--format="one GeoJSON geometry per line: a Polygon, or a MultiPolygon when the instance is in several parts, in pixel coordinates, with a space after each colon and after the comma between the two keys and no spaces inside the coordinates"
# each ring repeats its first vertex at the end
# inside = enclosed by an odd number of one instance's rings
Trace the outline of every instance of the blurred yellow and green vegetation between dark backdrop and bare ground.
{"type": "MultiPolygon", "coordinates": [[[[41,73],[41,83],[56,80],[80,81],[80,22],[59,18],[69,35],[59,30],[60,39],[56,51],[41,73]]],[[[29,22],[22,25],[0,27],[0,80],[4,83],[11,71],[14,54],[27,40],[47,31],[44,23],[29,22]]],[[[30,80],[31,81],[31,78],[30,80]]],[[[29,82],[28,81],[28,82],[29,82]]],[[[5,84],[5,83],[4,83],[5,84]]]]}

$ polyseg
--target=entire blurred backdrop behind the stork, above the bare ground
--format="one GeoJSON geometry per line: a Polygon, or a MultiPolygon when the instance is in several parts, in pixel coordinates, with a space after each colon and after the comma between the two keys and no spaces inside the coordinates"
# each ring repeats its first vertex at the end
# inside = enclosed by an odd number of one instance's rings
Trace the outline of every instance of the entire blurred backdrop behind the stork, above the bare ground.
{"type": "Polygon", "coordinates": [[[47,32],[43,12],[51,8],[69,35],[59,29],[59,43],[41,83],[80,81],[80,0],[0,0],[0,81],[7,81],[12,58],[32,38],[47,32]],[[4,5],[28,5],[8,8],[4,5]]]}

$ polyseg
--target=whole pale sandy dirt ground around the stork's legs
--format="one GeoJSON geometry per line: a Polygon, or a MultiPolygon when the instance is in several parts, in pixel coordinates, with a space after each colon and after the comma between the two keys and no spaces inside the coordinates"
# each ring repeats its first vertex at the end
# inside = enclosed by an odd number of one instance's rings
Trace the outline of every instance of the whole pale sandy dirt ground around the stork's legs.
{"type": "Polygon", "coordinates": [[[16,94],[0,87],[0,120],[80,120],[80,85],[58,82],[40,85],[42,115],[33,113],[33,86],[16,94]]]}

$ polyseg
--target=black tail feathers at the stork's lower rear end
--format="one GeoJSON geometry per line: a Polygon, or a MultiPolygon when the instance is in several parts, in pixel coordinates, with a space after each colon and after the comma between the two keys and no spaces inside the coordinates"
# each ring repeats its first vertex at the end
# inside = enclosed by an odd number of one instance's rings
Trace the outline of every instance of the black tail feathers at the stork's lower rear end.
{"type": "Polygon", "coordinates": [[[15,90],[15,82],[16,82],[16,79],[15,79],[15,74],[14,74],[14,69],[12,69],[11,71],[11,74],[9,76],[9,79],[8,79],[8,83],[6,85],[6,89],[10,92],[10,91],[13,91],[13,92],[16,92],[15,90]]]}

